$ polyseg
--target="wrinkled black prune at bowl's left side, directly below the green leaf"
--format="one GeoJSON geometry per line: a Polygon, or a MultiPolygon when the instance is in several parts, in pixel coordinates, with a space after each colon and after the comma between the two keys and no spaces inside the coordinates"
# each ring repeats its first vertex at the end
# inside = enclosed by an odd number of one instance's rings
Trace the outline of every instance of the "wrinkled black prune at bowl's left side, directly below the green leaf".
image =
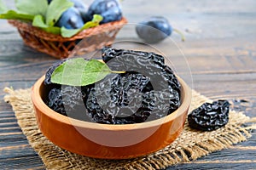
{"type": "Polygon", "coordinates": [[[49,90],[46,105],[64,116],[90,121],[84,108],[84,91],[73,86],[62,86],[49,90]]]}

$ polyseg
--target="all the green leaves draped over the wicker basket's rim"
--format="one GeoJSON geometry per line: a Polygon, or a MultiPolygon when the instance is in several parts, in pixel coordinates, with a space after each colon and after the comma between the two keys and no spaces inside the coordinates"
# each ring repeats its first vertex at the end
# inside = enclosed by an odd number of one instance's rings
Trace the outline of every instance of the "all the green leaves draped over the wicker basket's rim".
{"type": "Polygon", "coordinates": [[[32,26],[42,30],[61,35],[62,37],[73,37],[79,31],[90,27],[99,26],[103,20],[102,16],[95,14],[91,21],[88,21],[79,29],[66,29],[57,27],[55,23],[60,19],[67,8],[73,7],[73,3],[68,0],[54,0],[48,4],[48,0],[15,0],[18,9],[8,10],[3,1],[0,0],[0,19],[23,20],[32,22],[32,26]]]}

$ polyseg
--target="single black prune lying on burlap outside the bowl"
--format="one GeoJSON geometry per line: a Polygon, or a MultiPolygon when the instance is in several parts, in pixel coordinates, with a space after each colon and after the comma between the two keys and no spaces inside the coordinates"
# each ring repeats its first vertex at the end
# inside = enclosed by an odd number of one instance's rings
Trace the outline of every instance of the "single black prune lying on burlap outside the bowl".
{"type": "Polygon", "coordinates": [[[224,127],[229,122],[230,103],[227,100],[204,103],[188,116],[189,126],[202,131],[224,127]]]}

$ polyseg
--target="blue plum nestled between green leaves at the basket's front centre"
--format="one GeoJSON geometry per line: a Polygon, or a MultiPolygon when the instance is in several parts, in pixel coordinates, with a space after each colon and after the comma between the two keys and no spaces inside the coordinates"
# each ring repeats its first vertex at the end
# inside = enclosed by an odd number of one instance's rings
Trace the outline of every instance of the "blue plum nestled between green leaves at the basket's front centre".
{"type": "Polygon", "coordinates": [[[64,26],[67,29],[77,29],[84,26],[84,20],[79,14],[79,10],[71,7],[61,15],[61,18],[56,22],[55,26],[64,26]]]}

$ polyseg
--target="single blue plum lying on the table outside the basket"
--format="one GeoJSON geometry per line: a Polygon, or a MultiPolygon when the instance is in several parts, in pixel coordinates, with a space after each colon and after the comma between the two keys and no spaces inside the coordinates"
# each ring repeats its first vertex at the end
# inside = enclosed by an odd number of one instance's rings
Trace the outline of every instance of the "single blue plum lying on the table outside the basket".
{"type": "Polygon", "coordinates": [[[172,34],[172,26],[162,16],[153,16],[143,20],[136,26],[138,37],[144,42],[156,43],[172,34]]]}

